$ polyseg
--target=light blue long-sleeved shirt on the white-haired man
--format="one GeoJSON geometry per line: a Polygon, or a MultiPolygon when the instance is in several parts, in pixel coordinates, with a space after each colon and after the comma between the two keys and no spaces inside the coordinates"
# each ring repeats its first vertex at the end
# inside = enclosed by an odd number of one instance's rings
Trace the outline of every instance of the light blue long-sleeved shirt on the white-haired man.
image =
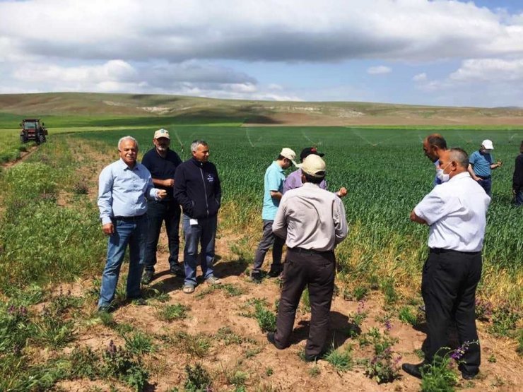
{"type": "Polygon", "coordinates": [[[146,198],[155,199],[151,173],[136,162],[131,169],[123,160],[106,166],[98,179],[98,208],[102,225],[115,216],[139,216],[147,212],[146,198]]]}

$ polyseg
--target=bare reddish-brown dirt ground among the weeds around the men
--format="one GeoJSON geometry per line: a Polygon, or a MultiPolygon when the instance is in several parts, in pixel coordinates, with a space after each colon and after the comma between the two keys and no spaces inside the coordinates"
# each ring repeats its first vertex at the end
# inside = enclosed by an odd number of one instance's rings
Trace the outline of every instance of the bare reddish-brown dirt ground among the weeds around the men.
{"type": "MultiPolygon", "coordinates": [[[[101,168],[112,161],[111,157],[100,153],[100,148],[83,148],[83,160],[92,163],[89,167],[79,165],[79,174],[89,186],[89,196],[95,200],[95,184],[101,168]]],[[[349,319],[358,311],[355,301],[347,301],[341,296],[334,297],[331,308],[331,328],[329,341],[341,346],[353,346],[353,369],[342,372],[331,364],[320,360],[317,364],[303,362],[299,354],[305,347],[310,313],[302,305],[296,315],[293,343],[286,350],[276,350],[262,333],[252,313],[254,299],[263,299],[268,309],[274,310],[279,298],[277,280],[264,280],[254,284],[247,278],[249,268],[242,259],[230,251],[231,245],[242,239],[245,233],[220,232],[217,239],[216,275],[220,276],[225,289],[211,290],[205,283],[196,287],[193,295],[186,295],[181,288],[183,280],[168,273],[168,247],[165,230],[160,235],[158,264],[153,283],[148,287],[151,296],[146,306],[122,304],[113,313],[114,322],[119,326],[131,326],[134,331],[142,331],[153,337],[155,352],[144,355],[151,378],[146,391],[169,391],[183,386],[186,379],[184,367],[201,362],[213,379],[213,391],[234,391],[236,383],[244,385],[247,391],[418,391],[420,382],[400,371],[401,379],[389,384],[377,384],[364,374],[358,360],[372,358],[371,347],[360,347],[358,337],[348,338],[349,319]],[[158,294],[163,294],[165,302],[160,302],[158,294]],[[183,304],[187,307],[187,317],[178,321],[161,321],[159,312],[166,305],[183,304]],[[223,329],[227,328],[227,329],[223,329]],[[185,334],[185,335],[184,335],[185,334]],[[228,338],[224,338],[224,335],[228,338]],[[241,382],[240,382],[241,381],[241,382]]],[[[181,249],[183,249],[181,247],[181,249]]],[[[254,249],[253,249],[254,251],[254,249]]],[[[269,259],[270,256],[267,256],[269,259]]],[[[182,251],[180,251],[182,259],[182,251]]],[[[126,273],[124,266],[122,273],[126,273]]],[[[100,278],[102,271],[97,278],[100,278]]],[[[71,290],[71,295],[83,296],[93,286],[93,279],[82,280],[61,289],[71,290]]],[[[58,292],[59,287],[54,287],[58,292]]],[[[384,333],[383,296],[371,292],[365,299],[368,316],[363,321],[361,333],[370,328],[378,328],[384,333]]],[[[115,328],[103,326],[95,316],[95,298],[86,304],[86,316],[90,321],[78,325],[78,339],[73,345],[90,346],[103,350],[110,340],[122,346],[124,340],[115,328]]],[[[425,333],[397,319],[397,311],[392,316],[389,334],[398,339],[394,351],[401,355],[401,362],[419,362],[414,350],[421,349],[425,333]]],[[[481,375],[474,381],[460,380],[459,388],[469,391],[517,391],[523,390],[520,379],[523,375],[523,361],[515,352],[515,343],[510,340],[493,338],[486,333],[486,324],[478,322],[483,361],[481,375]]],[[[71,350],[66,349],[66,350],[71,350]]],[[[400,362],[400,363],[401,363],[400,362]]],[[[107,390],[106,381],[87,379],[59,383],[59,387],[71,391],[88,391],[93,388],[107,390]]]]}

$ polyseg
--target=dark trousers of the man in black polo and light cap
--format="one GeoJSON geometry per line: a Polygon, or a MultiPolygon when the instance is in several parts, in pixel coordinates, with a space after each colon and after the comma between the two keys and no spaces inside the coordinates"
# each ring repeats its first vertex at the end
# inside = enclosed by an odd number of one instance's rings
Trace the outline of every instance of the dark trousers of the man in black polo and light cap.
{"type": "Polygon", "coordinates": [[[169,264],[176,266],[178,251],[180,251],[180,206],[175,201],[148,201],[147,218],[149,227],[143,268],[145,271],[154,271],[158,239],[163,222],[165,222],[169,243],[169,264]]]}

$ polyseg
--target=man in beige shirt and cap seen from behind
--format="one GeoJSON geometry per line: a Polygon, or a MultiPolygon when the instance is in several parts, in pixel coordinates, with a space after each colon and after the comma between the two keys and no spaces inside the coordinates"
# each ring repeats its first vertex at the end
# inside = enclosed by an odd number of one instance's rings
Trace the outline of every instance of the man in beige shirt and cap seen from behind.
{"type": "Polygon", "coordinates": [[[305,360],[315,361],[322,356],[327,340],[334,248],[347,237],[347,220],[341,199],[319,187],[326,174],[322,158],[309,155],[301,169],[303,186],[283,195],[272,225],[274,234],[286,239],[287,254],[276,332],[268,333],[267,339],[280,350],[288,347],[296,308],[308,287],[312,316],[305,360]]]}

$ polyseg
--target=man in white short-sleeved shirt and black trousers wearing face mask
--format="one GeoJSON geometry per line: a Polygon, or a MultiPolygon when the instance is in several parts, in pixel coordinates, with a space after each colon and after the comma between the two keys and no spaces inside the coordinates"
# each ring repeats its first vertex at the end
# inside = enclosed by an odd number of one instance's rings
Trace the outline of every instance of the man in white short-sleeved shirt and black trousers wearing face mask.
{"type": "Polygon", "coordinates": [[[411,212],[411,220],[429,225],[427,261],[421,292],[427,316],[427,350],[421,364],[403,364],[421,378],[447,346],[449,321],[456,320],[459,344],[465,347],[459,370],[464,379],[479,372],[481,353],[476,331],[476,287],[481,278],[481,249],[490,197],[467,171],[469,157],[461,148],[440,155],[443,184],[435,186],[411,212]],[[438,352],[439,351],[439,352],[438,352]]]}

